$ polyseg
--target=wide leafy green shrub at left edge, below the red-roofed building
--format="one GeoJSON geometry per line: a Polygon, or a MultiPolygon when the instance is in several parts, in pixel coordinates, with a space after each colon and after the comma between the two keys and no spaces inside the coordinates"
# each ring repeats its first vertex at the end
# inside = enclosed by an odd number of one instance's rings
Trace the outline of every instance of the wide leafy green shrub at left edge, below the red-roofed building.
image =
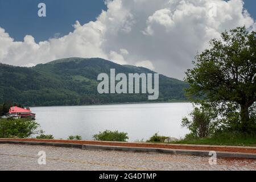
{"type": "Polygon", "coordinates": [[[39,124],[29,119],[0,119],[0,138],[27,138],[39,124]]]}

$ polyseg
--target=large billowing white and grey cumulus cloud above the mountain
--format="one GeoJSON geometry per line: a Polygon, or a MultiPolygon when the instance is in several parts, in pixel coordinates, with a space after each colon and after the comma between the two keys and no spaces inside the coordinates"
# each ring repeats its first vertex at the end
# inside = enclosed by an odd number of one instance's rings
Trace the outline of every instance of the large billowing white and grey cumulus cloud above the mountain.
{"type": "Polygon", "coordinates": [[[242,0],[113,0],[106,5],[96,21],[77,21],[68,35],[39,43],[31,35],[15,42],[0,24],[0,62],[32,66],[64,57],[102,57],[182,79],[210,39],[238,26],[256,27],[242,0]]]}

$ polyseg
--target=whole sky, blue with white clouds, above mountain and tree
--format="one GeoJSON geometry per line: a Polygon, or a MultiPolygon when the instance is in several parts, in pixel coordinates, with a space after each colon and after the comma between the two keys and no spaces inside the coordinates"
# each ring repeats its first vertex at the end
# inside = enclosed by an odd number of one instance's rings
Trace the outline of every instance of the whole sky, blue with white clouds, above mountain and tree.
{"type": "Polygon", "coordinates": [[[0,63],[102,57],[182,80],[210,39],[255,29],[255,7],[254,0],[0,0],[0,63]],[[38,16],[40,2],[46,17],[38,16]]]}

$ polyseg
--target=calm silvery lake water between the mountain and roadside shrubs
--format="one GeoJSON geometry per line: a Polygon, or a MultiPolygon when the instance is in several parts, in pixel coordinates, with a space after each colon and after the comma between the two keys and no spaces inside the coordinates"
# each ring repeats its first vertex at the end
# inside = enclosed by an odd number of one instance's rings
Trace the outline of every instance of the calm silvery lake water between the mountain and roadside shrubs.
{"type": "Polygon", "coordinates": [[[98,131],[108,129],[125,131],[131,142],[146,140],[156,132],[184,137],[188,130],[180,126],[181,118],[192,109],[190,103],[31,107],[41,129],[56,139],[81,135],[90,140],[98,131]]]}

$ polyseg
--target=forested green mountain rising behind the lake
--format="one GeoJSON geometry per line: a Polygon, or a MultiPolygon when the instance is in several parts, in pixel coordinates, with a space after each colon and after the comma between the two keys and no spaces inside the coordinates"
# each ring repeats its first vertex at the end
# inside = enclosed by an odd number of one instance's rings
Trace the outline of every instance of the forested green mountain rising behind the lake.
{"type": "MultiPolygon", "coordinates": [[[[0,103],[16,102],[26,106],[85,105],[123,102],[148,102],[147,94],[98,94],[97,76],[110,73],[155,73],[143,67],[119,65],[112,61],[72,57],[38,64],[35,67],[15,67],[0,64],[0,103]]],[[[159,99],[184,101],[188,84],[159,75],[159,99]]]]}

